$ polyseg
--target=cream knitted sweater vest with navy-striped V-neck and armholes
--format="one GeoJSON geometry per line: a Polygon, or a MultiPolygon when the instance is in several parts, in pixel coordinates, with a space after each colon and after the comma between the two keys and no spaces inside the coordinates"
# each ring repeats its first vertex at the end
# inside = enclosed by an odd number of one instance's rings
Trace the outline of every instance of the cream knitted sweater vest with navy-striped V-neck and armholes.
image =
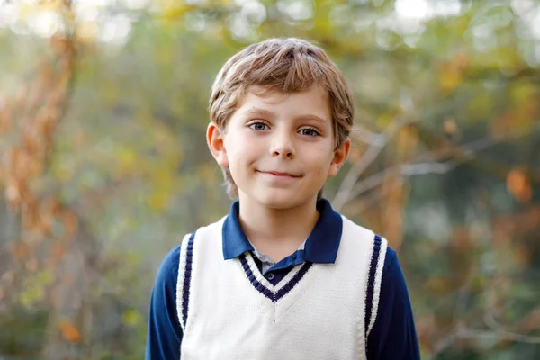
{"type": "Polygon", "coordinates": [[[176,286],[181,359],[365,359],[387,241],[342,219],[335,263],[304,262],[275,286],[249,252],[224,260],[225,218],[186,235],[176,286]]]}

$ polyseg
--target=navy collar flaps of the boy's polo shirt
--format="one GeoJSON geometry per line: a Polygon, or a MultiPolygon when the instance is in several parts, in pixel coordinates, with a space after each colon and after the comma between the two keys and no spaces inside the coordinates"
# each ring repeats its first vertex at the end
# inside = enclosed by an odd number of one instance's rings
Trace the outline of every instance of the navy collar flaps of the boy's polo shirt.
{"type": "MultiPolygon", "coordinates": [[[[239,209],[239,202],[233,202],[230,206],[229,216],[225,219],[221,229],[223,258],[225,260],[239,257],[247,251],[254,250],[240,227],[239,209]]],[[[317,202],[317,211],[320,212],[320,217],[305,242],[303,257],[305,261],[312,263],[334,263],[338,256],[343,220],[326,199],[317,202]]]]}

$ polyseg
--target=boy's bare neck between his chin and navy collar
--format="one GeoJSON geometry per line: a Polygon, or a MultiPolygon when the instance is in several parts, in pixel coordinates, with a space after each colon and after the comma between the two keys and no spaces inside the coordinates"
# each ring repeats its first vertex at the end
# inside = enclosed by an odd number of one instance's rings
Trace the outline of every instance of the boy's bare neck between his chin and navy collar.
{"type": "Polygon", "coordinates": [[[319,220],[317,197],[290,209],[273,209],[240,194],[238,220],[249,241],[275,261],[292,254],[319,220]]]}

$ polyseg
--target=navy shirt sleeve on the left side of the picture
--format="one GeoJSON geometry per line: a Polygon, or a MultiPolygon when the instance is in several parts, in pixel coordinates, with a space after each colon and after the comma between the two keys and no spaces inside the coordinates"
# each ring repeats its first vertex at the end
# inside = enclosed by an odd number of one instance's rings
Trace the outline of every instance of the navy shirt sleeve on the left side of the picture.
{"type": "Polygon", "coordinates": [[[180,247],[161,263],[150,298],[146,360],[180,359],[182,328],[176,311],[176,279],[180,247]]]}

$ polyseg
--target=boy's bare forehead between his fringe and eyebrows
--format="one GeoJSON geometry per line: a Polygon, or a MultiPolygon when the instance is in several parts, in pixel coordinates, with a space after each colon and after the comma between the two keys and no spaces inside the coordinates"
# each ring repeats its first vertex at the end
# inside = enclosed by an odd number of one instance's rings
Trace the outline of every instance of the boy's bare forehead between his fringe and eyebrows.
{"type": "Polygon", "coordinates": [[[258,108],[269,112],[312,113],[330,120],[328,92],[320,85],[306,91],[283,93],[260,85],[248,86],[239,99],[238,110],[258,108]]]}

